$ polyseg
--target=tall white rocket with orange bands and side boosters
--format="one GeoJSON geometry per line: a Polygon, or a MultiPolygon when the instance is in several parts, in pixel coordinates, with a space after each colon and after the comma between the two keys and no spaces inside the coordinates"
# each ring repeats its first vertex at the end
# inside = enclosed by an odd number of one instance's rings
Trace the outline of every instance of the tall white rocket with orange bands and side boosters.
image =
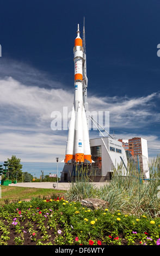
{"type": "MultiPolygon", "coordinates": [[[[74,102],[72,106],[69,133],[66,144],[65,163],[91,163],[89,131],[83,99],[83,42],[79,25],[75,47],[73,48],[75,66],[74,102]]],[[[88,109],[87,109],[88,110],[88,109]]]]}

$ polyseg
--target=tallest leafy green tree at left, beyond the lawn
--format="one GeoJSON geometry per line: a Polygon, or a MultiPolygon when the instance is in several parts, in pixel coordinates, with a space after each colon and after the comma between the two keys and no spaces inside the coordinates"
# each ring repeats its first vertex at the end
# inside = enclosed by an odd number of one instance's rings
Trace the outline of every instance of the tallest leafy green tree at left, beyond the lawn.
{"type": "Polygon", "coordinates": [[[21,159],[16,156],[12,156],[11,159],[8,159],[8,163],[12,164],[13,170],[12,173],[16,175],[17,172],[17,181],[22,179],[22,164],[21,159]]]}

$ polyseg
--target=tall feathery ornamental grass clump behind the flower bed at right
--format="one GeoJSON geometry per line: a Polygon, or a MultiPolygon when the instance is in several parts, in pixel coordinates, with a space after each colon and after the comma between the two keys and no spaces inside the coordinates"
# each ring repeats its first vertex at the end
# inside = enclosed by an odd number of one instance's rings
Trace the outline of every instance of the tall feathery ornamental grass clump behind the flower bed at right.
{"type": "Polygon", "coordinates": [[[87,175],[87,170],[81,169],[80,172],[77,171],[76,180],[71,182],[65,198],[75,201],[84,198],[100,198],[109,203],[110,211],[121,209],[124,213],[157,217],[160,212],[159,166],[160,157],[157,156],[150,164],[150,179],[140,182],[143,174],[136,174],[132,164],[127,166],[126,176],[121,175],[122,165],[120,164],[118,170],[114,170],[112,180],[104,183],[100,188],[95,188],[87,175]]]}

